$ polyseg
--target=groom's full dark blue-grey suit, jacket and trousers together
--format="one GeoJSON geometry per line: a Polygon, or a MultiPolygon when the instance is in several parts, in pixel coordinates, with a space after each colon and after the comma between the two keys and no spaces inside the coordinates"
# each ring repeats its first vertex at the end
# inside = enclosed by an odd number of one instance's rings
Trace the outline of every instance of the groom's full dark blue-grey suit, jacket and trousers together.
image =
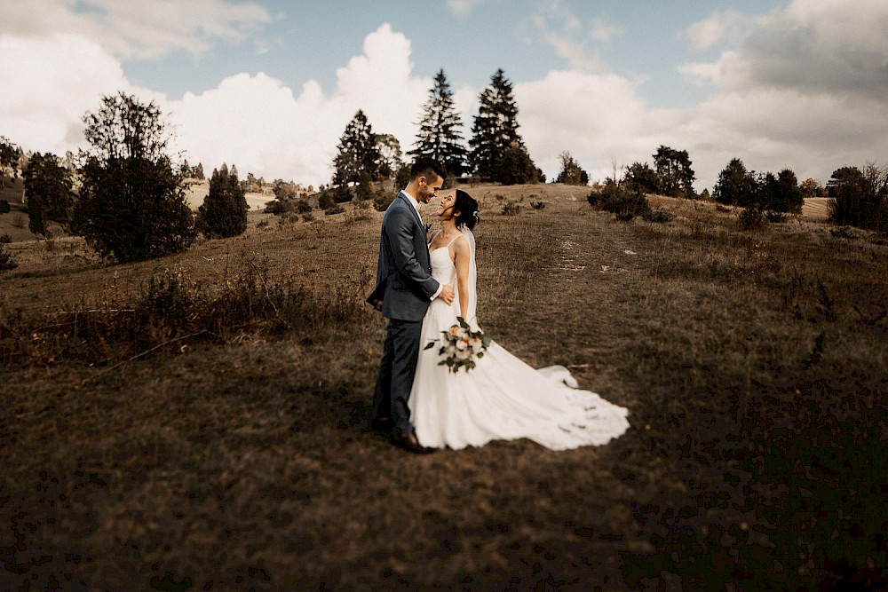
{"type": "Polygon", "coordinates": [[[377,287],[367,299],[389,320],[373,412],[376,417],[391,417],[400,433],[413,430],[407,401],[416,375],[423,318],[439,287],[432,278],[425,225],[407,193],[400,192],[385,210],[377,287]]]}

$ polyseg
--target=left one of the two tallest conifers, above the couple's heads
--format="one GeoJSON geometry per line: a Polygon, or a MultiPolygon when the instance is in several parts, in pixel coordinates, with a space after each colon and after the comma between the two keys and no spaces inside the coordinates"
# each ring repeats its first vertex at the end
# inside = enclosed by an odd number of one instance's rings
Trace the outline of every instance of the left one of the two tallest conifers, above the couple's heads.
{"type": "Polygon", "coordinates": [[[468,150],[463,145],[463,135],[459,131],[462,125],[463,120],[454,105],[453,91],[441,69],[435,75],[429,100],[423,107],[423,118],[419,122],[419,133],[416,135],[416,148],[407,154],[417,158],[431,157],[443,164],[451,175],[459,177],[468,167],[468,150]]]}

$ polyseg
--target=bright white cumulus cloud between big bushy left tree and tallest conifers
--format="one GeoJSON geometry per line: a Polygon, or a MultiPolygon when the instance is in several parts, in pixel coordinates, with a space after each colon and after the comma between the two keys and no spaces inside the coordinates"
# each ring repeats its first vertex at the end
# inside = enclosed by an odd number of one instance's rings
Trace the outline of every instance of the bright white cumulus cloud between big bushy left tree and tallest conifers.
{"type": "Polygon", "coordinates": [[[376,133],[398,138],[403,152],[412,145],[432,81],[412,75],[409,56],[407,37],[385,24],[367,36],[360,56],[337,69],[329,96],[314,81],[295,95],[268,75],[238,74],[165,105],[178,145],[205,170],[226,162],[266,180],[329,183],[338,139],[358,109],[376,133]]]}

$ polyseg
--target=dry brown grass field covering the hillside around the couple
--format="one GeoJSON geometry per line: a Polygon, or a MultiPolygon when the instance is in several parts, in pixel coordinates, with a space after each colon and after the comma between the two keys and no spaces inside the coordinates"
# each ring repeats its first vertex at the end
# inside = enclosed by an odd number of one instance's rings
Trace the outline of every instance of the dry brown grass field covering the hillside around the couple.
{"type": "Polygon", "coordinates": [[[371,209],[251,213],[139,264],[13,241],[0,589],[888,587],[884,237],[467,189],[481,326],[628,407],[621,438],[415,456],[370,431],[371,209]]]}

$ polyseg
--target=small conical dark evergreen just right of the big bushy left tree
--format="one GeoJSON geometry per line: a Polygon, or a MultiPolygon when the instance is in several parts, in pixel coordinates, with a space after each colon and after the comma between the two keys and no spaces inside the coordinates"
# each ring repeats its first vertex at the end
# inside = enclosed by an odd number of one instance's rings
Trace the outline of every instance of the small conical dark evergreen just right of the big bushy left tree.
{"type": "Polygon", "coordinates": [[[250,207],[234,165],[229,172],[223,162],[213,170],[210,193],[197,210],[197,227],[206,236],[237,236],[247,230],[247,212],[250,207]]]}

